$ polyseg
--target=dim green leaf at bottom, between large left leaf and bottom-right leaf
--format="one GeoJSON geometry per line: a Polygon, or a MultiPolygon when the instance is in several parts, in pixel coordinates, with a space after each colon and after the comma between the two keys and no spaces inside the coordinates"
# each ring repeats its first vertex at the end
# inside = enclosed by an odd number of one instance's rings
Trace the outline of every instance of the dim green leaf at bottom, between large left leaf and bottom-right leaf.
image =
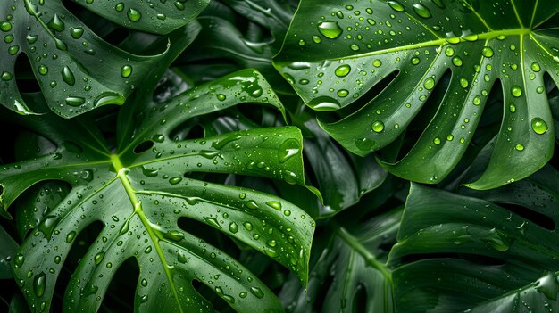
{"type": "MultiPolygon", "coordinates": [[[[296,279],[284,284],[280,300],[288,312],[393,312],[392,273],[383,246],[396,241],[402,207],[351,228],[331,220],[315,239],[319,259],[307,290],[296,279]]],[[[293,277],[295,278],[295,277],[293,277]]]]}

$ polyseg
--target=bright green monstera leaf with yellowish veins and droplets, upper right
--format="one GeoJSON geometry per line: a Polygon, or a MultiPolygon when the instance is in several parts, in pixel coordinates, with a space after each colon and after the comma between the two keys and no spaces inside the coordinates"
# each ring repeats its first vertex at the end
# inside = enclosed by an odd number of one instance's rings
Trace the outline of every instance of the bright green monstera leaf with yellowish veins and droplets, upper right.
{"type": "Polygon", "coordinates": [[[342,119],[321,127],[359,155],[393,142],[414,118],[425,118],[421,109],[436,106],[413,148],[383,164],[430,184],[463,156],[499,86],[504,107],[495,151],[469,185],[488,189],[528,177],[552,157],[544,76],[559,83],[557,12],[552,0],[303,0],[274,62],[314,110],[344,109],[342,119]],[[448,86],[438,84],[446,74],[448,86]]]}

